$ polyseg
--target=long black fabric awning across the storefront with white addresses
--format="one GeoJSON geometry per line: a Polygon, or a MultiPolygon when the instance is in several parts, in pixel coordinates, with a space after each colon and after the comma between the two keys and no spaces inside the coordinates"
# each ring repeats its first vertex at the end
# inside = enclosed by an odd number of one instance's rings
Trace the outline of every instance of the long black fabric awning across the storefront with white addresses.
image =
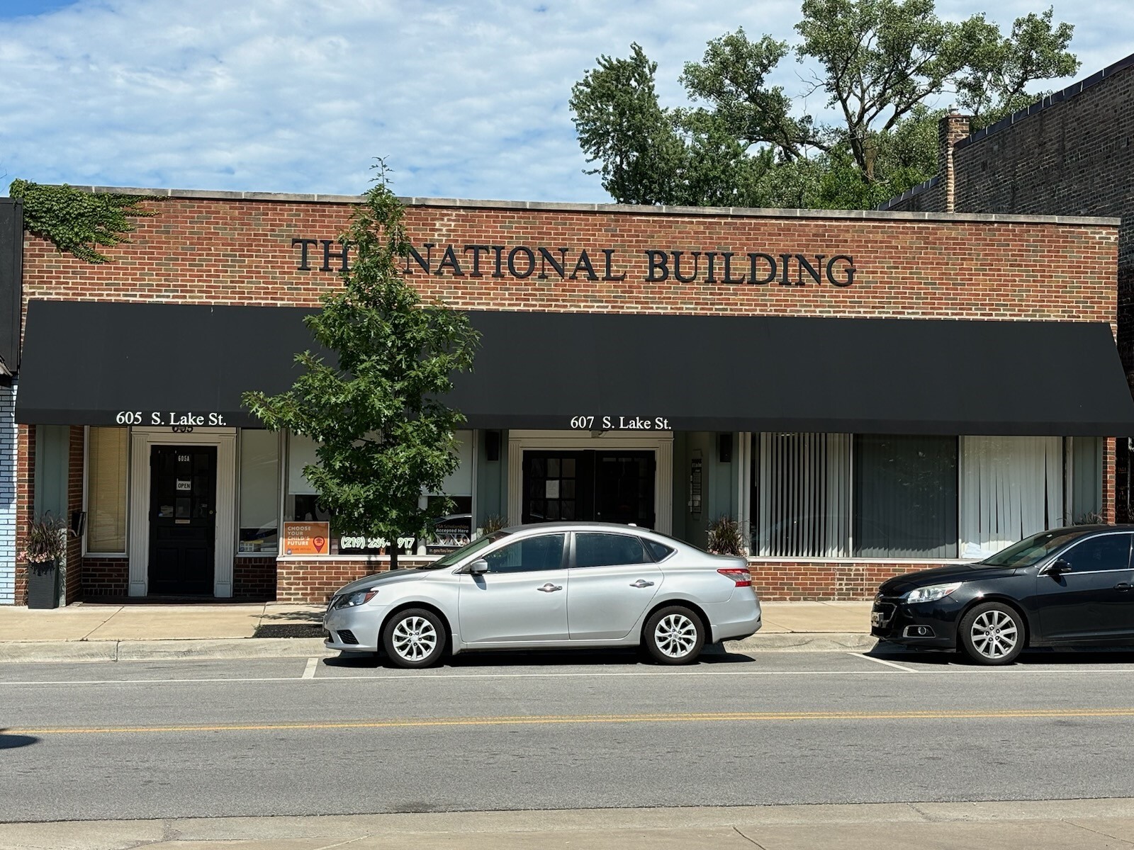
{"type": "MultiPolygon", "coordinates": [[[[17,420],[255,425],[240,392],[290,386],[307,312],[33,301],[17,420]]],[[[469,315],[482,347],[448,402],[471,427],[1134,434],[1103,323],[469,315]]]]}

